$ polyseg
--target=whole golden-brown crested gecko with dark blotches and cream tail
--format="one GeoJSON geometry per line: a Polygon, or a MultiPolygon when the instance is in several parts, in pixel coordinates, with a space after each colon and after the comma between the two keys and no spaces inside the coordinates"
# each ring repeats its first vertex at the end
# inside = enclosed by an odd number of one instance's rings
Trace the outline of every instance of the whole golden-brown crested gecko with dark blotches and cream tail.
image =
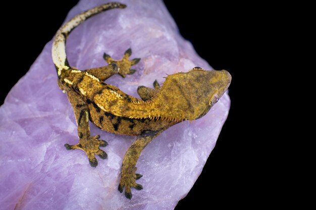
{"type": "Polygon", "coordinates": [[[170,126],[204,116],[227,91],[231,75],[225,70],[206,71],[194,67],[188,72],[168,75],[162,86],[157,81],[153,82],[153,89],[139,86],[138,99],[104,83],[115,74],[125,78],[136,71],[131,66],[140,58],[130,59],[130,48],[121,60],[114,60],[104,53],[103,58],[108,65],[102,67],[82,71],[72,67],[66,55],[66,39],[70,32],[86,19],[115,8],[124,9],[126,5],[103,4],[72,18],[57,31],[51,51],[58,86],[67,94],[78,127],[79,143],[65,144],[67,150],[84,151],[92,167],[98,164],[95,155],[107,159],[107,153],[100,147],[106,147],[108,143],[100,139],[100,135],[91,136],[89,121],[108,132],[137,136],[123,158],[118,186],[121,193],[125,188],[125,196],[131,199],[131,188],[143,189],[136,183],[142,177],[136,173],[136,163],[146,145],[170,126]]]}

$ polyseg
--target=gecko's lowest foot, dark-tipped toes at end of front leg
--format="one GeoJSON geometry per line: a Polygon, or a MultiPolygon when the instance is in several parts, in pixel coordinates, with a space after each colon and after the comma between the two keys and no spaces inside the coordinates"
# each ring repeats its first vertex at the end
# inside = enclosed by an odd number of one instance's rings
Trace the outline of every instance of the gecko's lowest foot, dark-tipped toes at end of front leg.
{"type": "Polygon", "coordinates": [[[122,172],[122,177],[121,177],[121,181],[120,181],[118,190],[122,193],[123,189],[125,187],[125,197],[127,197],[128,199],[132,198],[131,187],[134,187],[137,190],[143,189],[143,186],[136,183],[136,180],[140,179],[143,175],[136,174],[135,173],[136,170],[137,170],[137,168],[135,167],[134,173],[132,173],[132,174],[122,172]]]}

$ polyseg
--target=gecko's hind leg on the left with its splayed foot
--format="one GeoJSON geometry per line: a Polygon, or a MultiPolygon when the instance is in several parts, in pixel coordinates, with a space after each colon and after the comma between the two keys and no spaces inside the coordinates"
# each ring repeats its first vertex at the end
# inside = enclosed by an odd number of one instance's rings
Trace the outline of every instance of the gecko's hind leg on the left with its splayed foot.
{"type": "Polygon", "coordinates": [[[65,144],[65,147],[67,150],[79,149],[84,151],[88,156],[90,165],[96,167],[97,160],[94,155],[98,155],[101,159],[106,159],[108,157],[107,153],[100,150],[99,147],[106,147],[108,143],[99,139],[100,135],[90,136],[89,109],[81,96],[74,91],[68,91],[67,96],[75,112],[79,143],[77,145],[65,144]]]}

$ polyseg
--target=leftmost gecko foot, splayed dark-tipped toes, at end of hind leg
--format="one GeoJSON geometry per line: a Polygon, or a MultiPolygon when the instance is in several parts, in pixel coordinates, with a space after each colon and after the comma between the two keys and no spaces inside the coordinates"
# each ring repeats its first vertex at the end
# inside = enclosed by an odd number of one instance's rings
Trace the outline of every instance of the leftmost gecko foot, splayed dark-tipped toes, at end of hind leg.
{"type": "Polygon", "coordinates": [[[107,159],[108,154],[103,150],[100,150],[99,147],[106,147],[108,143],[104,140],[100,140],[100,135],[89,136],[88,139],[80,138],[79,144],[69,145],[65,144],[67,150],[83,150],[89,159],[89,163],[92,167],[97,166],[97,160],[94,155],[99,156],[101,159],[107,159]]]}

